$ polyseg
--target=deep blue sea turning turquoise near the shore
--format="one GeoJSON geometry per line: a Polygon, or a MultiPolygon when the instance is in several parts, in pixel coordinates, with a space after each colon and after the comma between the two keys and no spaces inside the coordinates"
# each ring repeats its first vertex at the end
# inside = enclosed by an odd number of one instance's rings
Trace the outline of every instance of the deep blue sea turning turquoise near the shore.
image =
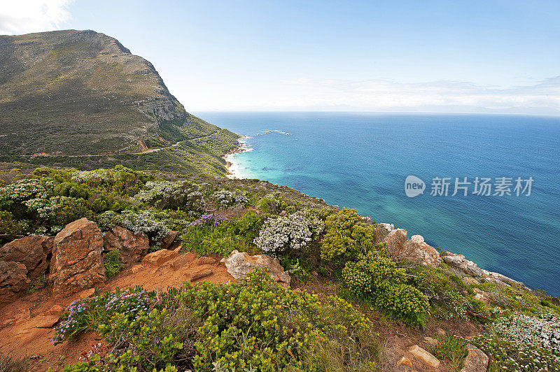
{"type": "MultiPolygon", "coordinates": [[[[198,113],[249,136],[235,155],[260,178],[356,208],[482,267],[560,295],[560,117],[374,113],[198,113]],[[291,135],[288,135],[291,134],[291,135]],[[405,178],[426,183],[405,194],[405,178]],[[455,179],[464,189],[452,196],[455,179]],[[478,177],[491,194],[473,194],[478,177]],[[499,182],[496,178],[506,178],[499,182]],[[430,194],[449,178],[447,196],[430,194]],[[512,178],[511,186],[507,183],[512,178]],[[517,178],[528,189],[515,191],[517,178]],[[440,185],[439,181],[435,181],[440,185]],[[511,195],[494,195],[496,185],[511,195]]],[[[479,187],[480,190],[480,187],[479,187]]]]}

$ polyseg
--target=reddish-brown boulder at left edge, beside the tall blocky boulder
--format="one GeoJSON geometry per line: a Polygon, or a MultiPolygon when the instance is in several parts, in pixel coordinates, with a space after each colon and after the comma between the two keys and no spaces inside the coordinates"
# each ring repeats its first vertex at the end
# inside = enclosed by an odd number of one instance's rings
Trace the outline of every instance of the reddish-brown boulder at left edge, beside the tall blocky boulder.
{"type": "Polygon", "coordinates": [[[0,248],[0,260],[24,264],[27,276],[30,279],[38,278],[48,269],[54,240],[52,236],[42,235],[15,239],[0,248]]]}

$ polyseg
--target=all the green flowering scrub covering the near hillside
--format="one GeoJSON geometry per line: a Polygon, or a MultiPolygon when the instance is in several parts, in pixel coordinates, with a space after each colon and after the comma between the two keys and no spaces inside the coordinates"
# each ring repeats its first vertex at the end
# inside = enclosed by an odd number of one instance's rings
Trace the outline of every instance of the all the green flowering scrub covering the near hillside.
{"type": "MultiPolygon", "coordinates": [[[[4,241],[56,234],[87,217],[103,231],[120,225],[144,232],[152,250],[176,230],[183,247],[200,255],[273,255],[293,287],[321,280],[335,288],[335,296],[320,297],[285,291],[255,272],[246,281],[186,284],[159,295],[141,288],[106,292],[73,303],[55,341],[97,331],[112,352],[67,371],[377,370],[379,338],[370,320],[379,317],[417,329],[433,320],[484,324],[487,333],[472,340],[437,336],[431,351],[457,369],[467,343],[489,355],[491,371],[560,368],[559,299],[522,287],[467,284],[445,264],[395,262],[386,256],[380,225],[289,187],[124,166],[11,169],[0,179],[4,241]],[[486,303],[475,298],[480,290],[486,303]]],[[[116,257],[105,255],[110,276],[120,270],[116,257]]]]}

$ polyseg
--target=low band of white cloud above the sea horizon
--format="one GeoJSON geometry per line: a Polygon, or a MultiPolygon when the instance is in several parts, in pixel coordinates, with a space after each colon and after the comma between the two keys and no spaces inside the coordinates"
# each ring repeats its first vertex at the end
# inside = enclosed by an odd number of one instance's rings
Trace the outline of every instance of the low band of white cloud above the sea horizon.
{"type": "Polygon", "coordinates": [[[283,80],[284,94],[251,102],[246,108],[560,114],[560,76],[534,85],[482,86],[440,80],[283,80]],[[285,92],[290,92],[286,94],[285,92]]]}

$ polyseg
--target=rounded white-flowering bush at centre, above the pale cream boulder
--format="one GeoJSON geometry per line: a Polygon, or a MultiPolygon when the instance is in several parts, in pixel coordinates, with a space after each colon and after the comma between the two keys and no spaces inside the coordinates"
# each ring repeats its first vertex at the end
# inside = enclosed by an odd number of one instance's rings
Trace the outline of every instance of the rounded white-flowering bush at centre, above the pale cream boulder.
{"type": "Polygon", "coordinates": [[[321,231],[323,221],[308,210],[302,210],[265,221],[254,243],[267,254],[278,255],[286,248],[302,250],[321,231]]]}

